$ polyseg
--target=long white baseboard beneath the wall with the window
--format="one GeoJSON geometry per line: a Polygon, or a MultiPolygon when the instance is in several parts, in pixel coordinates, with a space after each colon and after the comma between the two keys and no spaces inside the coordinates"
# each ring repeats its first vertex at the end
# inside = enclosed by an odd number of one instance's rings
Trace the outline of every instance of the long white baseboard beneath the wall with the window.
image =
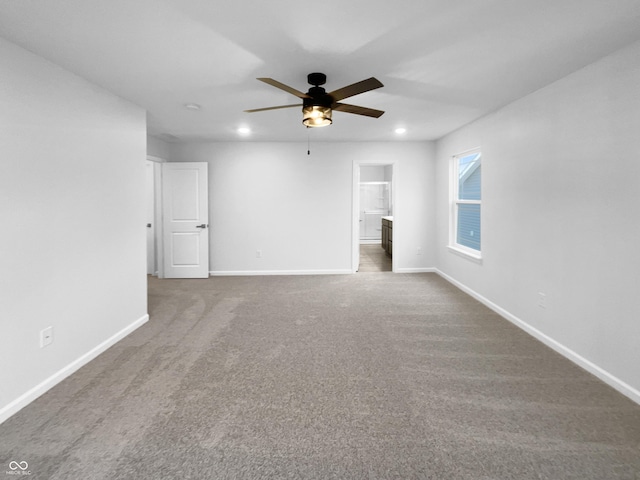
{"type": "Polygon", "coordinates": [[[438,269],[434,269],[434,271],[435,271],[435,273],[440,275],[442,278],[444,278],[446,281],[448,281],[452,285],[455,285],[456,287],[458,287],[463,292],[469,294],[470,296],[472,296],[473,298],[478,300],[480,303],[482,303],[485,306],[489,307],[491,310],[496,312],[501,317],[504,317],[506,320],[510,321],[511,323],[516,325],[517,327],[521,328],[522,330],[527,332],[532,337],[540,340],[542,343],[544,343],[548,347],[552,348],[553,350],[555,350],[556,352],[558,352],[560,355],[562,355],[563,357],[567,358],[568,360],[571,360],[573,363],[575,363],[579,367],[582,367],[587,372],[595,375],[600,380],[602,380],[604,383],[606,383],[610,387],[616,389],[618,392],[622,393],[624,396],[630,398],[631,400],[633,400],[637,404],[640,404],[640,391],[638,391],[636,388],[634,388],[631,385],[623,382],[618,377],[616,377],[616,376],[612,375],[611,373],[607,372],[606,370],[604,370],[603,368],[599,367],[595,363],[587,360],[586,358],[584,358],[583,356],[577,354],[576,352],[574,352],[570,348],[566,347],[565,345],[562,345],[558,341],[556,341],[553,338],[549,337],[548,335],[542,333],[537,328],[532,327],[528,323],[524,322],[523,320],[521,320],[520,318],[516,317],[515,315],[509,313],[508,311],[506,311],[502,307],[496,305],[495,303],[493,303],[489,299],[483,297],[482,295],[480,295],[476,291],[470,289],[466,285],[458,282],[457,280],[455,280],[454,278],[450,277],[446,273],[443,273],[438,269]]]}

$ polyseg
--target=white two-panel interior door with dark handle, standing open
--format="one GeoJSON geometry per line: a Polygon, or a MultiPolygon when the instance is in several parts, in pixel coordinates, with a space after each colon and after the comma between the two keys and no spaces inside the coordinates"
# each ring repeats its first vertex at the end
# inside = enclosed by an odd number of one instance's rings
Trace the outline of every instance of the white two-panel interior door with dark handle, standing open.
{"type": "Polygon", "coordinates": [[[206,162],[162,164],[165,278],[209,276],[209,191],[206,162]]]}

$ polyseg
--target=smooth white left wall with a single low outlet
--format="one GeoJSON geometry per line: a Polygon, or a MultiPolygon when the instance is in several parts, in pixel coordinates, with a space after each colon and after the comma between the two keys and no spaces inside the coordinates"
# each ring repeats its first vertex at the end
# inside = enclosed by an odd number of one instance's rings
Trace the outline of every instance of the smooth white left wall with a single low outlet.
{"type": "Polygon", "coordinates": [[[144,319],[147,287],[144,110],[2,39],[0,58],[2,421],[144,319]]]}

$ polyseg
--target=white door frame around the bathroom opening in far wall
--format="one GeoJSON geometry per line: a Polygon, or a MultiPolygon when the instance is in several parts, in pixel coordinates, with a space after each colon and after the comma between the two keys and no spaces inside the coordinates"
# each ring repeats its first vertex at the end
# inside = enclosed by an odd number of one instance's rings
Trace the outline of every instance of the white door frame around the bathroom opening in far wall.
{"type": "MultiPolygon", "coordinates": [[[[360,167],[391,166],[391,205],[393,205],[393,245],[396,250],[396,221],[398,214],[398,162],[393,160],[354,160],[352,187],[352,221],[351,221],[351,271],[356,273],[360,266],[360,167]]],[[[401,242],[398,244],[400,246],[401,242]]],[[[396,271],[396,256],[391,256],[391,271],[396,271]]]]}

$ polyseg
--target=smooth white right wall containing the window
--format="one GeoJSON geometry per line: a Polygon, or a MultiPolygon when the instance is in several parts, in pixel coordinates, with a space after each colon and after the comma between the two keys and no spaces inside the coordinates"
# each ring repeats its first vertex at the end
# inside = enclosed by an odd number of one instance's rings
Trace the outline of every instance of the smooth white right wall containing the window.
{"type": "Polygon", "coordinates": [[[437,142],[437,266],[640,400],[640,43],[437,142]],[[451,253],[449,162],[480,146],[482,264],[451,253]],[[546,308],[538,306],[546,295],[546,308]],[[626,387],[625,387],[626,385],[626,387]],[[635,393],[633,392],[635,390],[635,393]]]}

